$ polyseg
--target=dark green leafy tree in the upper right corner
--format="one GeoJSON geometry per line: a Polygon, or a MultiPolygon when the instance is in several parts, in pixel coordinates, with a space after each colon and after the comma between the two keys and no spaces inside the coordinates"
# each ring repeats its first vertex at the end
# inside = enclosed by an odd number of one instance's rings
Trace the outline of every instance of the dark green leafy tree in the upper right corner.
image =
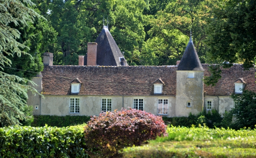
{"type": "Polygon", "coordinates": [[[256,57],[255,7],[255,0],[216,3],[206,27],[205,43],[210,60],[240,62],[245,69],[253,66],[256,57]]]}

